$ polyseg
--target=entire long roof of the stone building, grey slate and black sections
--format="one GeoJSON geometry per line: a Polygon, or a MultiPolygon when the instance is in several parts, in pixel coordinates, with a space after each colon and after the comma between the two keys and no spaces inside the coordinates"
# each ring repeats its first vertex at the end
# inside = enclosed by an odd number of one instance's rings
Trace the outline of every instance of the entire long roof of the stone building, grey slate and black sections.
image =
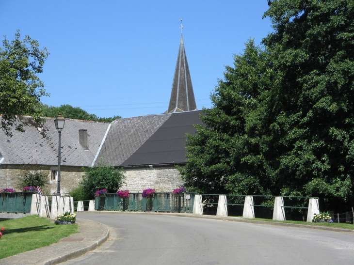
{"type": "MultiPolygon", "coordinates": [[[[201,113],[195,110],[148,115],[118,119],[112,124],[66,119],[61,165],[97,165],[101,158],[115,167],[185,163],[186,133],[194,134],[193,125],[202,124],[201,113]],[[80,129],[87,129],[89,150],[79,143],[80,129]]],[[[57,165],[58,131],[54,119],[47,118],[41,125],[25,117],[24,124],[25,132],[12,130],[12,138],[0,130],[0,164],[57,165]]]]}

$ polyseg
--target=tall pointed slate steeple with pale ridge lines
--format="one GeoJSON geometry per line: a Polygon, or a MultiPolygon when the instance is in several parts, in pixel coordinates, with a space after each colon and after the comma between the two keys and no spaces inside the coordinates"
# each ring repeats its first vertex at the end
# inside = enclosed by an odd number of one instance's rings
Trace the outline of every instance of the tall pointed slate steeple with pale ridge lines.
{"type": "Polygon", "coordinates": [[[197,107],[193,93],[192,79],[191,74],[189,73],[187,56],[181,33],[170,104],[165,113],[190,111],[195,109],[197,109],[197,107]]]}

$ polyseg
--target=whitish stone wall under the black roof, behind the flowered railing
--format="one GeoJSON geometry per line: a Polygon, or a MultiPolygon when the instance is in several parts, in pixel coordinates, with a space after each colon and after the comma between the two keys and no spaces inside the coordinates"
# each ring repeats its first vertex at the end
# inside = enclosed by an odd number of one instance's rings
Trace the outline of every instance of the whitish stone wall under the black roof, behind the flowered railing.
{"type": "Polygon", "coordinates": [[[129,192],[142,192],[146,188],[154,188],[156,192],[172,192],[183,184],[174,167],[127,169],[124,175],[126,184],[120,189],[129,189],[129,192]]]}

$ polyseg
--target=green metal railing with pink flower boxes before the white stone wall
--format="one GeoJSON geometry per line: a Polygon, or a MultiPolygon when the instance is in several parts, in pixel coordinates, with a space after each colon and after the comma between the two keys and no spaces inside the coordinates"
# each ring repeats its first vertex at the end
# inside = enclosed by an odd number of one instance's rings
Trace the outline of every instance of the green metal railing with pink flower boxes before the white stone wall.
{"type": "Polygon", "coordinates": [[[95,198],[95,209],[192,213],[194,194],[186,192],[176,196],[168,192],[157,192],[152,197],[145,198],[142,193],[129,193],[129,197],[119,198],[116,193],[106,193],[105,197],[95,198]]]}

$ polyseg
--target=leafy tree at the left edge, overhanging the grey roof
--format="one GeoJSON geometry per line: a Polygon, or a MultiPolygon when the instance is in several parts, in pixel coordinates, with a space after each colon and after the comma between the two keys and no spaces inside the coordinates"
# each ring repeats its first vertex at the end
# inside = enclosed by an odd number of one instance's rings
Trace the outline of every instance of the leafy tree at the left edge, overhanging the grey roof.
{"type": "Polygon", "coordinates": [[[37,103],[41,96],[48,95],[37,76],[49,55],[47,48],[40,49],[30,36],[20,37],[17,31],[13,41],[5,37],[0,47],[0,127],[9,136],[12,126],[23,131],[20,115],[30,114],[39,120],[37,103]]]}

